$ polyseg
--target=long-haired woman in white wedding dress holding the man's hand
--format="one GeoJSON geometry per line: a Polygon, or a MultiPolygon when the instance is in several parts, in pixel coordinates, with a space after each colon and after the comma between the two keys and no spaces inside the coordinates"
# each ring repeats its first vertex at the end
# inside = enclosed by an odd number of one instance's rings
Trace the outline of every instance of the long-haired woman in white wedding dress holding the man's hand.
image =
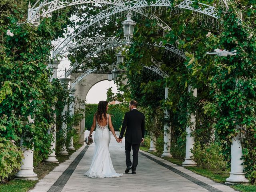
{"type": "Polygon", "coordinates": [[[94,135],[94,155],[92,158],[92,164],[90,169],[84,173],[85,176],[92,178],[110,178],[110,177],[120,177],[123,174],[118,174],[113,168],[113,164],[110,158],[110,153],[108,151],[108,146],[110,143],[110,132],[108,126],[119,143],[119,138],[116,137],[114,127],[112,126],[111,116],[107,114],[108,102],[100,101],[98,104],[98,110],[94,114],[92,127],[88,139],[92,139],[92,132],[95,127],[94,135]]]}

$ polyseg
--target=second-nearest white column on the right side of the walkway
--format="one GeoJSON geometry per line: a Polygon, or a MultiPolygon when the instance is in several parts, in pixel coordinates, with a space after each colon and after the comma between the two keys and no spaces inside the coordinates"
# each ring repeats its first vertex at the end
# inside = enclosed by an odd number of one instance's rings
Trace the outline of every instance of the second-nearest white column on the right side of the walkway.
{"type": "MultiPolygon", "coordinates": [[[[188,92],[192,91],[192,86],[188,86],[188,92]]],[[[193,96],[197,96],[197,89],[194,89],[193,96]]],[[[196,114],[191,113],[190,121],[192,122],[191,127],[188,126],[186,128],[187,136],[186,136],[186,157],[185,161],[182,163],[182,166],[196,166],[196,162],[192,160],[192,152],[190,151],[194,147],[194,136],[191,136],[191,132],[196,128],[196,114]]]]}

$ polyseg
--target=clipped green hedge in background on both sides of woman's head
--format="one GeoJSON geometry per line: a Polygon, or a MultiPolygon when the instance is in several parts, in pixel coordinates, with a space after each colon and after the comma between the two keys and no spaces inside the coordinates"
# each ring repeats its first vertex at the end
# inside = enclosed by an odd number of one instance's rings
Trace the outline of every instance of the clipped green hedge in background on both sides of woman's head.
{"type": "MultiPolygon", "coordinates": [[[[90,130],[92,126],[92,120],[95,112],[97,111],[98,104],[87,104],[85,107],[85,129],[90,130]]],[[[121,105],[109,105],[108,113],[111,114],[112,124],[115,131],[119,131],[122,126],[124,110],[121,105]]]]}

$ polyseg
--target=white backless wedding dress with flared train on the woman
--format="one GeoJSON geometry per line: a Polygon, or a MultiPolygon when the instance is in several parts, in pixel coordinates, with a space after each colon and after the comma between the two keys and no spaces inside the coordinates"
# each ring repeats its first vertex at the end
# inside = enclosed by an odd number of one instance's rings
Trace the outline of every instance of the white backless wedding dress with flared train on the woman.
{"type": "MultiPolygon", "coordinates": [[[[107,114],[108,116],[108,114],[107,114]]],[[[106,126],[100,126],[96,119],[96,130],[94,134],[94,155],[90,169],[84,173],[92,178],[120,177],[123,174],[116,173],[113,168],[108,146],[110,143],[110,131],[108,130],[108,120],[106,126]]]]}

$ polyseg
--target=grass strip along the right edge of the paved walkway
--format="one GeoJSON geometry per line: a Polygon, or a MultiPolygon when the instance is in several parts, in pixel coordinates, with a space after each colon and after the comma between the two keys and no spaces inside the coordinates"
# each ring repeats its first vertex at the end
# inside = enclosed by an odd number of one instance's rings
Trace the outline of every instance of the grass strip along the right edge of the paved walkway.
{"type": "MultiPolygon", "coordinates": [[[[140,146],[140,150],[148,152],[148,148],[144,146],[140,146]]],[[[149,152],[155,156],[161,157],[161,154],[158,152],[149,152]]],[[[176,158],[170,158],[170,157],[162,157],[163,159],[172,162],[176,165],[181,165],[183,160],[176,159],[176,158]]],[[[185,167],[188,170],[191,170],[192,172],[195,172],[199,175],[205,176],[207,178],[210,178],[211,180],[219,183],[225,183],[226,178],[229,177],[229,174],[226,174],[224,171],[216,171],[216,170],[208,170],[202,167],[185,167]]],[[[256,186],[255,185],[233,185],[231,186],[235,190],[241,191],[241,192],[256,192],[256,186]]]]}

